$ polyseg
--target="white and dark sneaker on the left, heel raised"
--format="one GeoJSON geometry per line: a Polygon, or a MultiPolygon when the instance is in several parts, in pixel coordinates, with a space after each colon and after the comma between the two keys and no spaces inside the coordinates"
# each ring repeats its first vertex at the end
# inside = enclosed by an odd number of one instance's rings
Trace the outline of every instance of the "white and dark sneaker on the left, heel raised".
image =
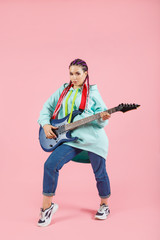
{"type": "Polygon", "coordinates": [[[51,203],[51,206],[45,210],[40,208],[40,219],[38,221],[38,226],[46,227],[50,224],[52,215],[58,210],[58,204],[51,203]]]}

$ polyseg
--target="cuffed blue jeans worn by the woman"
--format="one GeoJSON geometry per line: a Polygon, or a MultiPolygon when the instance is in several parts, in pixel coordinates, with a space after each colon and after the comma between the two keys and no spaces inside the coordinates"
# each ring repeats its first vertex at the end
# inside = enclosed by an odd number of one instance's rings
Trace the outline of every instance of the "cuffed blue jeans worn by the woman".
{"type": "MultiPolygon", "coordinates": [[[[54,196],[57,183],[59,170],[62,166],[72,160],[82,150],[79,148],[71,147],[66,144],[58,146],[48,157],[44,163],[43,175],[43,192],[45,196],[54,196]]],[[[106,172],[106,160],[88,151],[89,160],[92,165],[95,179],[97,181],[97,189],[101,198],[108,198],[110,196],[110,182],[106,172]]]]}

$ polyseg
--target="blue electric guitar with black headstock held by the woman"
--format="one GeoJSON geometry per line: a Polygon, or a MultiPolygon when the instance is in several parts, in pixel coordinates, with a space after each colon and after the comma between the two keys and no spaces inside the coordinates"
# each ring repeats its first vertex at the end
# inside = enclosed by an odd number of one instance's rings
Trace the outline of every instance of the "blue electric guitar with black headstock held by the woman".
{"type": "MultiPolygon", "coordinates": [[[[109,114],[112,114],[117,111],[121,111],[123,113],[137,109],[140,105],[138,104],[124,104],[121,103],[117,107],[110,108],[104,112],[108,112],[109,114]]],[[[68,123],[68,119],[70,114],[65,116],[64,118],[61,119],[51,119],[50,124],[54,127],[58,127],[57,129],[52,129],[54,134],[56,135],[56,138],[47,138],[44,132],[44,129],[42,126],[39,128],[39,142],[42,147],[42,149],[46,152],[51,152],[53,151],[56,147],[58,147],[60,144],[63,142],[70,142],[70,141],[76,141],[78,137],[71,137],[71,130],[82,126],[88,122],[94,121],[96,119],[100,119],[100,113],[96,113],[92,116],[83,118],[81,120],[72,122],[74,117],[77,116],[78,114],[81,114],[82,112],[80,110],[74,110],[72,112],[72,118],[71,118],[71,123],[68,123]]]]}

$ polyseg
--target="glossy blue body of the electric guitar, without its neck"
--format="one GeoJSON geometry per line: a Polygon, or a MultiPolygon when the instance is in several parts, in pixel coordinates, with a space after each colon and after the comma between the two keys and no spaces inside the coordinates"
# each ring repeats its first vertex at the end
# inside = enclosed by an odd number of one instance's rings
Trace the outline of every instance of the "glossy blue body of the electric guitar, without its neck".
{"type": "MultiPolygon", "coordinates": [[[[78,114],[82,113],[79,110],[75,110],[72,112],[71,122],[74,117],[78,114]]],[[[46,138],[44,129],[42,126],[39,128],[39,142],[42,149],[46,152],[53,151],[56,147],[61,145],[64,142],[76,141],[78,137],[71,137],[71,130],[65,131],[65,124],[68,123],[70,114],[62,119],[51,119],[50,124],[54,127],[58,127],[58,129],[52,129],[52,131],[56,134],[57,138],[46,138]]]]}

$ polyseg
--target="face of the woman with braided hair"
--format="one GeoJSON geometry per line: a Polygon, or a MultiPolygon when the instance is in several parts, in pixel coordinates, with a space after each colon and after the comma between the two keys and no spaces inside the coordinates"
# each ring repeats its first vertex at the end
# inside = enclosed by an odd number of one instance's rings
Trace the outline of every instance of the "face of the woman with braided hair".
{"type": "Polygon", "coordinates": [[[80,66],[70,66],[69,68],[70,80],[74,84],[74,88],[82,87],[83,82],[87,76],[87,71],[83,71],[80,66]]]}

